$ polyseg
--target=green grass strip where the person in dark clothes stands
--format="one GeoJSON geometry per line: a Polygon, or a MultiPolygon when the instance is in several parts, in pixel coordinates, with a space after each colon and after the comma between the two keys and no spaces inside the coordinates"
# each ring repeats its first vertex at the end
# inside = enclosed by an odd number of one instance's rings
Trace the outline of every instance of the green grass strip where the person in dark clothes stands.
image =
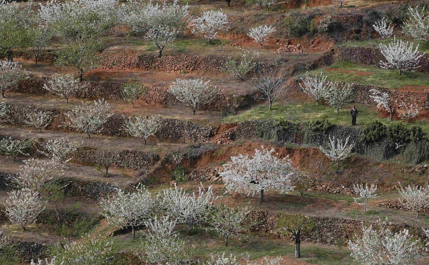
{"type": "MultiPolygon", "coordinates": [[[[359,110],[357,117],[357,125],[362,125],[368,121],[379,119],[384,124],[390,124],[389,118],[382,118],[377,111],[368,108],[368,106],[354,104],[359,110]]],[[[273,105],[272,111],[269,110],[267,105],[257,106],[247,111],[243,111],[238,115],[230,115],[222,118],[225,123],[246,121],[246,120],[260,120],[260,119],[275,119],[284,118],[291,122],[305,122],[317,118],[329,118],[332,123],[340,125],[350,125],[349,111],[352,105],[344,105],[337,116],[333,108],[325,105],[316,107],[314,103],[288,103],[287,105],[273,105]]],[[[397,117],[394,117],[395,119],[397,117]]],[[[417,120],[413,123],[405,123],[408,126],[419,125],[423,127],[424,131],[429,131],[429,123],[427,120],[417,120]]]]}

